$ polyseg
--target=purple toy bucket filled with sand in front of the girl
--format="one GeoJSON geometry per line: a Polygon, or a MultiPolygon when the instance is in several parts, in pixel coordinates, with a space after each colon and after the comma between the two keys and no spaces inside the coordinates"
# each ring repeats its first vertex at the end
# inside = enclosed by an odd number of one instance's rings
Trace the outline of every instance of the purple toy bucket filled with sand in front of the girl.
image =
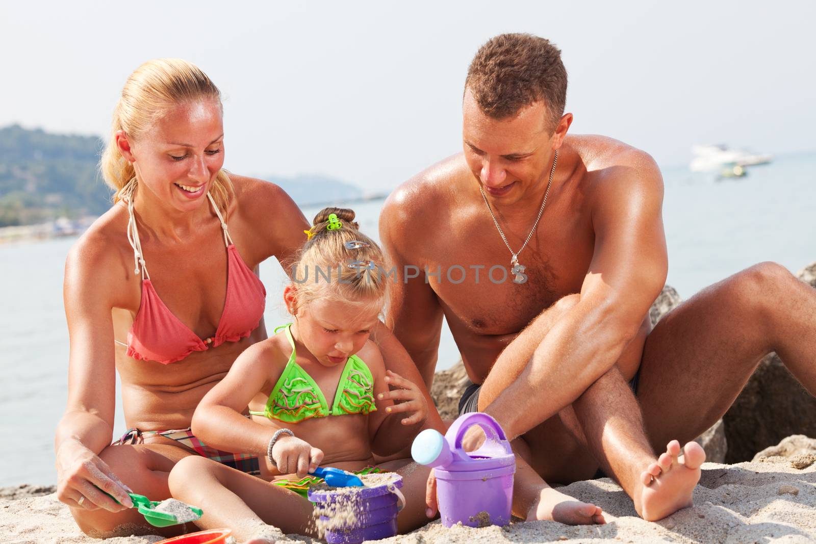
{"type": "MultiPolygon", "coordinates": [[[[388,484],[371,488],[341,488],[358,490],[355,491],[351,502],[353,506],[344,506],[344,510],[352,508],[357,514],[357,519],[349,524],[335,520],[330,529],[326,528],[326,542],[329,544],[358,544],[365,540],[379,540],[397,534],[397,514],[404,505],[398,504],[400,501],[397,493],[399,492],[395,493],[394,490],[402,487],[402,476],[391,474],[393,479],[388,484]]],[[[343,493],[335,490],[309,489],[308,500],[312,501],[317,508],[331,510],[332,505],[337,502],[348,501],[348,494],[345,494],[348,491],[343,493]]],[[[330,521],[330,516],[322,514],[320,520],[326,524],[330,521]]]]}

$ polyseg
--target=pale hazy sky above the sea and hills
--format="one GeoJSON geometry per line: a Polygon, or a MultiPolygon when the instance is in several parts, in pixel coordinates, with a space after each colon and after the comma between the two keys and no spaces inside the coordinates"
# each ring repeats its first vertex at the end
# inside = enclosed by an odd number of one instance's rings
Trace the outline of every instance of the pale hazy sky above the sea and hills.
{"type": "Polygon", "coordinates": [[[816,148],[816,2],[11,2],[0,126],[106,135],[144,60],[198,64],[225,96],[226,167],[394,187],[461,150],[482,42],[561,47],[572,131],[663,166],[692,144],[816,148]]]}

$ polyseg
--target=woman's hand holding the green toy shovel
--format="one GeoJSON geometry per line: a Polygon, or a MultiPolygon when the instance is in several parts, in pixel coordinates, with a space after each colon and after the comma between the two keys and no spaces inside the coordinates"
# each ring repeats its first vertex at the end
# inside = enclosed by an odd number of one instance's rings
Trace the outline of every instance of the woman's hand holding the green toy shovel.
{"type": "Polygon", "coordinates": [[[118,512],[133,507],[133,501],[127,495],[132,493],[131,489],[79,440],[64,440],[60,444],[56,453],[56,471],[57,498],[72,508],[104,508],[118,512]]]}

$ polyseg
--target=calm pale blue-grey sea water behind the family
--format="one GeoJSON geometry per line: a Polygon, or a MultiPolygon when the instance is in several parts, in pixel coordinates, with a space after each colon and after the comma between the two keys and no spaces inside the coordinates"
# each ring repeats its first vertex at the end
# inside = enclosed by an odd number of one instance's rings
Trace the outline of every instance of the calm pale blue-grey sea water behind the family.
{"type": "MultiPolygon", "coordinates": [[[[816,261],[816,154],[778,157],[748,172],[716,181],[685,167],[663,170],[667,283],[682,298],[761,261],[776,261],[792,272],[816,261]]],[[[382,205],[352,205],[361,230],[375,239],[382,205]]],[[[306,208],[304,214],[312,219],[317,211],[306,208]]],[[[62,280],[73,241],[0,245],[0,485],[56,480],[54,433],[65,407],[69,352],[62,280]]],[[[268,294],[266,324],[286,322],[281,303],[286,276],[274,259],[260,273],[268,294]]],[[[457,360],[445,327],[438,368],[457,360]]],[[[114,436],[125,430],[118,405],[114,436]]]]}

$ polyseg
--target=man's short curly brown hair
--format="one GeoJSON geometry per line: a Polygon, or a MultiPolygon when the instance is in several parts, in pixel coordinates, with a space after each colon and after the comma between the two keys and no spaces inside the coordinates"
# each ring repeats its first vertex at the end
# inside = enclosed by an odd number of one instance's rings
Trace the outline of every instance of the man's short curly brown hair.
{"type": "Polygon", "coordinates": [[[561,50],[532,34],[500,34],[479,48],[468,68],[470,89],[487,116],[504,119],[543,100],[552,129],[564,114],[566,69],[561,50]]]}

